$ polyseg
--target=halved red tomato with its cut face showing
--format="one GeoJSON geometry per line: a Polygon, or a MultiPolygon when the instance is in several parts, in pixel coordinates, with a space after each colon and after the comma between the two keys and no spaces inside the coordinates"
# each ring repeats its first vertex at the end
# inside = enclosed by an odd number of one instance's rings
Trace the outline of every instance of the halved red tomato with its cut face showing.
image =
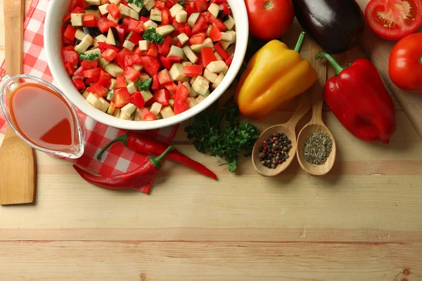
{"type": "Polygon", "coordinates": [[[365,16],[379,37],[399,40],[422,25],[422,0],[371,0],[365,16]]]}

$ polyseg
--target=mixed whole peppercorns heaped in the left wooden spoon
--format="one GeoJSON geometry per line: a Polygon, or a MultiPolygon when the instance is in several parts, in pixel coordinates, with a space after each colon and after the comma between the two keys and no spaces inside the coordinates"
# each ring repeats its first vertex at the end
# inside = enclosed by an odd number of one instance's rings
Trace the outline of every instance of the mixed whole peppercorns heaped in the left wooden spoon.
{"type": "Polygon", "coordinates": [[[260,162],[262,166],[266,166],[269,169],[276,169],[276,166],[286,162],[289,155],[288,152],[292,141],[288,139],[284,133],[273,133],[268,136],[260,147],[260,162]]]}

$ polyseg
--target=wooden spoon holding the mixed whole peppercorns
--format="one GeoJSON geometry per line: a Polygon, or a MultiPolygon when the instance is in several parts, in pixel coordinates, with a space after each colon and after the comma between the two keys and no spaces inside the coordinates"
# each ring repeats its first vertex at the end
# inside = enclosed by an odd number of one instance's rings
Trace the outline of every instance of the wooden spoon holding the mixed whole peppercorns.
{"type": "Polygon", "coordinates": [[[252,150],[252,164],[258,174],[260,174],[261,176],[276,176],[282,171],[286,170],[288,165],[290,165],[293,158],[295,157],[296,149],[298,148],[298,145],[296,143],[295,128],[300,119],[302,119],[302,117],[311,109],[310,101],[311,100],[309,93],[302,93],[302,97],[300,98],[298,108],[296,108],[295,113],[293,113],[293,116],[288,120],[288,122],[269,127],[261,134],[260,138],[257,139],[252,150]],[[259,155],[262,143],[273,133],[285,133],[288,139],[292,141],[292,148],[290,148],[290,151],[288,152],[289,157],[288,159],[286,159],[286,162],[283,162],[282,164],[276,166],[276,169],[269,169],[261,164],[259,155]]]}

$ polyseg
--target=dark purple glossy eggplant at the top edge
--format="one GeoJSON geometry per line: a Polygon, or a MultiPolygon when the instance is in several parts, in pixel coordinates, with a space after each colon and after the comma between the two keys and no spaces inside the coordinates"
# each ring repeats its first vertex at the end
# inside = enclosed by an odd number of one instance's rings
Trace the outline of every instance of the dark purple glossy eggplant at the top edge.
{"type": "Polygon", "coordinates": [[[354,0],[293,0],[302,28],[328,53],[352,48],[364,31],[364,13],[354,0]]]}

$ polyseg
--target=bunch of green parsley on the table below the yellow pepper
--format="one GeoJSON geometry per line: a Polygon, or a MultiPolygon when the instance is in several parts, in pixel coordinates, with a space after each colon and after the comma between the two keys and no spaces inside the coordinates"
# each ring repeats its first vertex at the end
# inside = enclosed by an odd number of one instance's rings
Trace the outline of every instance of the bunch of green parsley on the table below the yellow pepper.
{"type": "Polygon", "coordinates": [[[245,152],[245,157],[252,155],[253,145],[260,136],[257,127],[240,123],[238,116],[237,105],[229,100],[216,112],[201,112],[185,129],[196,150],[224,158],[226,163],[222,165],[228,165],[232,173],[236,171],[239,153],[245,152]]]}

